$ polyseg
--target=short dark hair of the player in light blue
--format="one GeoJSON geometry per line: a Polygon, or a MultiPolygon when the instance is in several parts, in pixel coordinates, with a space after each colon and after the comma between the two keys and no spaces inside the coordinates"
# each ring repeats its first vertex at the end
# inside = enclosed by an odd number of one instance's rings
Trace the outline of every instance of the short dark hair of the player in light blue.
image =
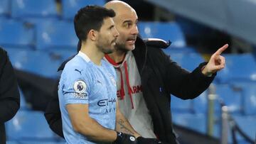
{"type": "Polygon", "coordinates": [[[87,33],[91,29],[100,31],[104,18],[113,18],[115,13],[112,9],[101,6],[85,6],[75,14],[75,33],[79,40],[86,40],[87,33]]]}

